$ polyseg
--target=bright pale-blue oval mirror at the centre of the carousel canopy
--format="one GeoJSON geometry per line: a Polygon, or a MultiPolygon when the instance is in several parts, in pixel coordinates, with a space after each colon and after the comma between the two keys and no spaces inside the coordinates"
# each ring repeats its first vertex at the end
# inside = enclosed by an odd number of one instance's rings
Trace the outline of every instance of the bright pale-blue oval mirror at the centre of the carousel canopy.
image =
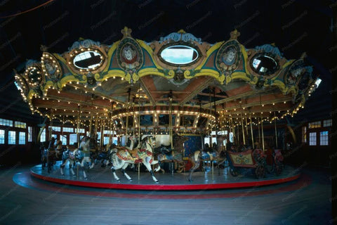
{"type": "Polygon", "coordinates": [[[160,56],[167,63],[185,65],[197,60],[199,54],[196,49],[190,46],[175,45],[161,51],[160,56]]]}

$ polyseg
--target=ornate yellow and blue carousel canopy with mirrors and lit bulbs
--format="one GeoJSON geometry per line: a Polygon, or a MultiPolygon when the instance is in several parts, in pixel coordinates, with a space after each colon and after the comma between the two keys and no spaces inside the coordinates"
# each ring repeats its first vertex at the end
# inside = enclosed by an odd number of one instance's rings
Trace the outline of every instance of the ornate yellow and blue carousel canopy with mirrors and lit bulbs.
{"type": "Polygon", "coordinates": [[[237,30],[215,44],[183,30],[150,43],[128,27],[121,33],[110,46],[81,39],[62,54],[42,46],[41,60],[15,75],[32,113],[63,122],[79,116],[86,126],[107,120],[120,134],[126,127],[203,132],[293,115],[317,87],[305,53],[287,60],[273,44],[246,49],[237,30]]]}

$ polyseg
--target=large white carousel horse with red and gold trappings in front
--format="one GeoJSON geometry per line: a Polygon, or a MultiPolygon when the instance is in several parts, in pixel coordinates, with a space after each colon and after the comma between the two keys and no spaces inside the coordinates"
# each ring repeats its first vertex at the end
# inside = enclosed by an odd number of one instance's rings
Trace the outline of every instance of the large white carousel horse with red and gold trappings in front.
{"type": "MultiPolygon", "coordinates": [[[[126,174],[125,169],[129,164],[143,163],[147,170],[150,172],[154,182],[158,182],[154,173],[152,171],[151,165],[158,164],[157,160],[153,160],[153,147],[156,145],[156,141],[153,136],[145,136],[143,140],[140,141],[140,148],[134,150],[128,150],[124,147],[117,148],[117,153],[113,154],[111,157],[112,161],[112,173],[114,174],[114,179],[120,181],[119,177],[116,174],[116,169],[121,169],[126,179],[131,181],[131,177],[126,174]]],[[[157,172],[160,169],[160,166],[157,169],[154,169],[154,172],[157,172]]]]}

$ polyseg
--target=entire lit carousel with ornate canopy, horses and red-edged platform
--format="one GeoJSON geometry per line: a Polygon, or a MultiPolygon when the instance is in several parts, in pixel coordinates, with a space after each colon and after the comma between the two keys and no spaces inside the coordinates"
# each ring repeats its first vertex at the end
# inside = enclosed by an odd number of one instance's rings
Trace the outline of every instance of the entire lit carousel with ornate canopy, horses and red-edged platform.
{"type": "Polygon", "coordinates": [[[111,45],[79,39],[64,53],[41,46],[41,59],[15,72],[32,114],[46,118],[39,134],[48,126],[32,176],[152,190],[298,179],[282,163],[277,120],[304,108],[319,85],[305,53],[289,60],[274,44],[247,49],[237,30],[214,44],[184,30],[150,43],[128,27],[121,34],[111,45]],[[55,140],[55,126],[72,127],[76,140],[55,140]],[[266,126],[275,129],[269,164],[266,126]]]}

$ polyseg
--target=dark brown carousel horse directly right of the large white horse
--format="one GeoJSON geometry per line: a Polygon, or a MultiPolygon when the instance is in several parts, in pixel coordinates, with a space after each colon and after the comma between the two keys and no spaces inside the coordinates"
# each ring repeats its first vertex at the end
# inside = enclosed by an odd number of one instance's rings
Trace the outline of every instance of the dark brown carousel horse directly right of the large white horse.
{"type": "MultiPolygon", "coordinates": [[[[178,167],[178,173],[183,172],[186,162],[183,161],[183,152],[184,152],[184,142],[188,141],[190,138],[187,136],[180,136],[178,134],[173,136],[173,148],[170,146],[159,146],[157,150],[159,151],[157,159],[159,165],[162,167],[163,162],[173,162],[176,167],[178,167]]],[[[173,170],[173,169],[172,169],[173,170]]],[[[165,172],[164,169],[161,169],[161,172],[165,172]]]]}

